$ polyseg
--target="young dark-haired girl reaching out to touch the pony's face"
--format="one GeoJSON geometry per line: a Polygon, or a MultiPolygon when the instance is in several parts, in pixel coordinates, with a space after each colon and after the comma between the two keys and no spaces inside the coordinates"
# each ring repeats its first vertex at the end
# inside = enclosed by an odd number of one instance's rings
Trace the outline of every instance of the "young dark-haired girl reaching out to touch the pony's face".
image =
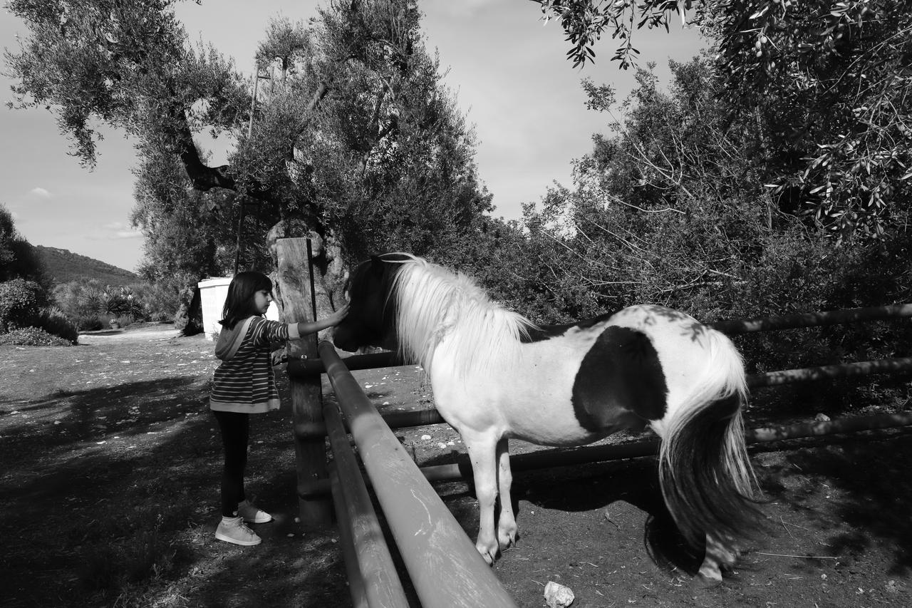
{"type": "Polygon", "coordinates": [[[222,522],[215,538],[237,545],[257,545],[260,537],[244,523],[265,523],[271,515],[247,500],[244,467],[247,464],[249,414],[262,414],[279,407],[272,368],[273,344],[297,340],[309,333],[333,327],[348,310],[345,306],[324,320],[313,323],[279,323],[265,320],[273,283],[263,273],[238,273],[228,286],[222,331],[215,356],[222,364],[215,370],[209,407],[222,431],[225,465],[222,473],[222,522]]]}

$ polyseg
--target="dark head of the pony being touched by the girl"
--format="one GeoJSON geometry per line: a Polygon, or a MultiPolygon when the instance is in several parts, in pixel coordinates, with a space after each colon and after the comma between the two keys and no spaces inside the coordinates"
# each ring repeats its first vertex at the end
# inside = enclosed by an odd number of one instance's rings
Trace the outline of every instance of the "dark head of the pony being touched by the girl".
{"type": "Polygon", "coordinates": [[[372,256],[358,264],[348,278],[348,314],[333,331],[333,343],[354,352],[366,346],[399,350],[396,307],[392,298],[396,274],[408,254],[372,256]]]}

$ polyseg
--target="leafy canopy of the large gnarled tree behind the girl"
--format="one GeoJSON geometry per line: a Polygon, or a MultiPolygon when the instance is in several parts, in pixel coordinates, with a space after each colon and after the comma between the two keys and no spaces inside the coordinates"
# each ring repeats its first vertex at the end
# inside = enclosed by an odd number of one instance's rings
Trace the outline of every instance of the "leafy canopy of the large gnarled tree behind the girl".
{"type": "Polygon", "coordinates": [[[245,256],[253,264],[275,225],[273,236],[319,237],[332,298],[343,262],[366,251],[455,246],[491,208],[472,130],[440,85],[415,2],[330,2],[306,23],[273,20],[257,63],[279,76],[264,87],[216,49],[191,46],[172,0],[8,6],[31,32],[6,53],[17,104],[55,112],[89,165],[96,125],[135,142],[133,218],[160,275],[179,260],[188,271],[224,270],[238,225],[263,244],[245,256]],[[226,164],[207,163],[194,139],[204,132],[236,142],[226,164]],[[195,245],[178,234],[190,227],[195,245]],[[184,252],[175,256],[176,248],[184,252]]]}

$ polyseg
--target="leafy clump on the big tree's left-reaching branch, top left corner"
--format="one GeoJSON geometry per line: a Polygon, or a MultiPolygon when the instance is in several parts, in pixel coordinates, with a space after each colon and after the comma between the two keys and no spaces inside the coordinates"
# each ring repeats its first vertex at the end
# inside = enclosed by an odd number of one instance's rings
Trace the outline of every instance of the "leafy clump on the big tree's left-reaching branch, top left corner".
{"type": "MultiPolygon", "coordinates": [[[[194,118],[233,120],[233,95],[225,86],[235,78],[231,66],[204,50],[183,46],[184,34],[170,9],[171,0],[110,2],[67,0],[35,3],[11,0],[9,10],[26,21],[31,36],[6,59],[20,79],[14,87],[20,107],[56,107],[61,131],[72,136],[73,152],[95,162],[100,119],[137,138],[140,145],[165,145],[179,151],[194,118]],[[201,99],[223,103],[181,114],[201,99]]],[[[237,107],[237,106],[234,106],[237,107]]]]}

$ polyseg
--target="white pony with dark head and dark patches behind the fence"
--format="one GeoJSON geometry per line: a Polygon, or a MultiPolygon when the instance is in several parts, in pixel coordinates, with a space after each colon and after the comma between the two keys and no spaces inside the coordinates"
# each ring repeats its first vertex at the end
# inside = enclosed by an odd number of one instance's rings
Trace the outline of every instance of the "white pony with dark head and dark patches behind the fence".
{"type": "Polygon", "coordinates": [[[517,536],[510,438],[579,446],[650,426],[661,438],[668,511],[690,546],[705,543],[706,586],[721,582],[737,543],[761,529],[743,435],[744,366],[719,331],[650,305],[537,325],[472,278],[405,253],[359,264],[347,296],[337,348],[381,347],[419,363],[440,415],[461,435],[479,502],[475,547],[489,564],[517,536]]]}

